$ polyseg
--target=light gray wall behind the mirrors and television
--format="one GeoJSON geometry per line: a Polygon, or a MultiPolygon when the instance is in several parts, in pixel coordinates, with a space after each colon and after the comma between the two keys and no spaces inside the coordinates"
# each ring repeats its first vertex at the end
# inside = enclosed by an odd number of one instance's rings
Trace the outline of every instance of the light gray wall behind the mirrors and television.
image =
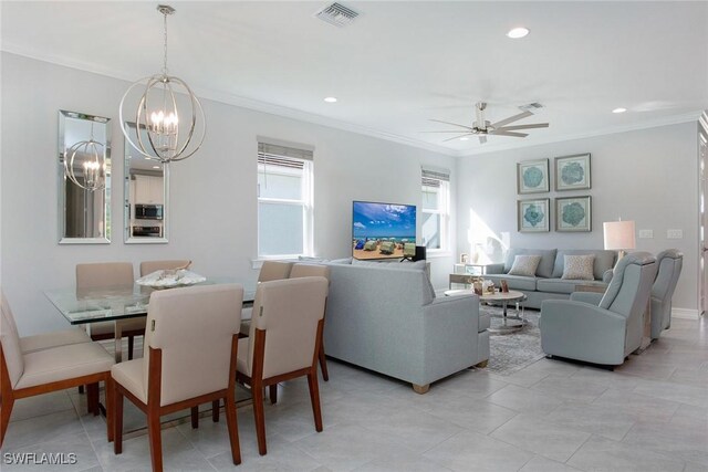
{"type": "MultiPolygon", "coordinates": [[[[2,289],[22,335],[65,327],[42,291],[71,286],[80,262],[183,259],[207,275],[254,283],[256,136],[313,145],[316,255],[351,255],[352,200],[420,206],[420,165],[455,171],[448,156],[373,137],[202,101],[204,147],[170,169],[170,241],[123,243],[123,138],[118,103],[128,83],[2,53],[2,289]],[[59,245],[58,111],[112,118],[113,242],[59,245]]],[[[455,192],[455,180],[452,192],[455,192]]],[[[455,209],[452,208],[452,211],[455,209]]],[[[419,217],[419,216],[418,216],[419,217]]],[[[418,218],[420,221],[420,218],[418,218]]],[[[452,228],[452,234],[456,233],[452,228]]],[[[455,241],[452,244],[456,244],[455,241]]],[[[455,245],[454,245],[455,247],[455,245]]],[[[450,255],[431,261],[447,286],[450,255]]]]}

